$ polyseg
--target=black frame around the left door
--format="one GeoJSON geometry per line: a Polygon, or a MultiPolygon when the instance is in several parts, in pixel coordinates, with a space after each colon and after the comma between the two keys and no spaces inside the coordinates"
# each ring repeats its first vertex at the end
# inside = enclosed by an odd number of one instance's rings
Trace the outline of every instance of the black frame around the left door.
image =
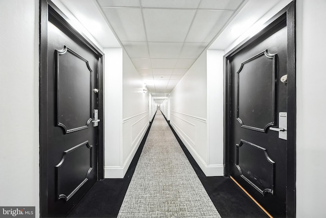
{"type": "Polygon", "coordinates": [[[98,56],[98,109],[99,109],[99,122],[98,127],[98,172],[97,180],[104,179],[104,115],[103,115],[103,60],[104,53],[83,33],[75,30],[69,23],[69,18],[58,9],[55,4],[49,0],[40,0],[40,22],[39,22],[39,142],[40,142],[40,215],[43,217],[48,216],[48,174],[47,174],[47,161],[48,161],[48,103],[47,103],[47,75],[48,75],[48,60],[47,60],[47,22],[48,19],[55,19],[61,23],[65,31],[71,34],[76,40],[83,42],[90,50],[98,56]]]}

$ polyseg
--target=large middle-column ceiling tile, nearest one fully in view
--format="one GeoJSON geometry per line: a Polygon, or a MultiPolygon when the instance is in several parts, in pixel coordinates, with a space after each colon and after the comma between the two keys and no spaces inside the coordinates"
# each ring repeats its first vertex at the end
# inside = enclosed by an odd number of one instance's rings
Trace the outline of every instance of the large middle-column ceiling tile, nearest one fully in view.
{"type": "Polygon", "coordinates": [[[183,42],[196,10],[143,9],[150,42],[183,42]]]}

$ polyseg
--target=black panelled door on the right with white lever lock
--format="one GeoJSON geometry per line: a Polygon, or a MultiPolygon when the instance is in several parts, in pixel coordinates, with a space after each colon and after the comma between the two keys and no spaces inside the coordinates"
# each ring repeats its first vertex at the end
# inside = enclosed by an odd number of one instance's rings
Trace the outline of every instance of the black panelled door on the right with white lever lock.
{"type": "MultiPolygon", "coordinates": [[[[286,17],[227,55],[228,173],[271,215],[287,211],[288,110],[286,17]]],[[[288,100],[290,101],[288,102],[288,100]]],[[[294,157],[294,154],[293,154],[294,157]]],[[[292,157],[292,158],[293,158],[292,157]]],[[[295,187],[295,184],[292,184],[295,187]]]]}

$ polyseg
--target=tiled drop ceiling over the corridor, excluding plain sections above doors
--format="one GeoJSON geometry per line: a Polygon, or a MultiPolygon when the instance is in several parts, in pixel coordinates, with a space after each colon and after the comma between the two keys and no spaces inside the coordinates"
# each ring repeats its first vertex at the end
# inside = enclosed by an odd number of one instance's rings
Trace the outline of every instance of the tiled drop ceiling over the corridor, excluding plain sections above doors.
{"type": "Polygon", "coordinates": [[[244,0],[96,0],[151,94],[169,94],[244,0]]]}

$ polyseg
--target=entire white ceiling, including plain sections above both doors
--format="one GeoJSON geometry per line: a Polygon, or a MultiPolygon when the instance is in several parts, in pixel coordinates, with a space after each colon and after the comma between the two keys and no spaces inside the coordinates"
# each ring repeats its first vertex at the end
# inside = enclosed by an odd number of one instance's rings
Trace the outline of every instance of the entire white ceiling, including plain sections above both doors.
{"type": "Polygon", "coordinates": [[[123,47],[154,99],[166,97],[208,47],[226,49],[289,0],[52,0],[101,47],[123,47]],[[250,22],[247,22],[247,21],[250,22]],[[244,23],[246,21],[246,23],[244,23]],[[215,39],[218,40],[215,40],[215,39]]]}

